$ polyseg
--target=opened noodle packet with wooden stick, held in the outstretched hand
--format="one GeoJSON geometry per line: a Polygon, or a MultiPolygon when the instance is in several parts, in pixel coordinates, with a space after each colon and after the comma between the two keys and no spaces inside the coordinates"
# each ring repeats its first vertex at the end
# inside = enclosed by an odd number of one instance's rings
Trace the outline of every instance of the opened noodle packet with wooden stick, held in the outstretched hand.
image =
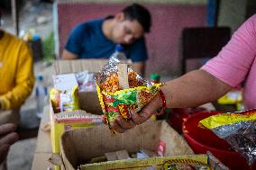
{"type": "Polygon", "coordinates": [[[110,122],[120,114],[125,120],[131,112],[139,112],[159,92],[160,85],[151,84],[139,76],[128,64],[110,58],[96,74],[96,90],[109,129],[110,122]]]}

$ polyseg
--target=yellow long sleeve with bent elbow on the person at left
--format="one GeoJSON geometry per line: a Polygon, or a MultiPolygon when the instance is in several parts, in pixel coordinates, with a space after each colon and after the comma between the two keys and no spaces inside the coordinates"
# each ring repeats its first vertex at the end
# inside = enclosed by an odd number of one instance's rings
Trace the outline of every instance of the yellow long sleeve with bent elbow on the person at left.
{"type": "MultiPolygon", "coordinates": [[[[32,93],[32,88],[35,81],[33,75],[32,52],[27,44],[23,43],[18,54],[15,87],[12,91],[0,96],[3,110],[10,110],[20,107],[27,97],[32,93]]],[[[10,64],[15,65],[15,63],[10,64]]]]}

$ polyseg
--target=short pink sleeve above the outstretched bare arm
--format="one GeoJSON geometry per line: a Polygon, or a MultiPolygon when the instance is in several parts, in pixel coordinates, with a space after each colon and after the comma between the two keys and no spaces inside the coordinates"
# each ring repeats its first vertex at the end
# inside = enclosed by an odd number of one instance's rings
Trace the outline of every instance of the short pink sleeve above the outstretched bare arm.
{"type": "Polygon", "coordinates": [[[241,85],[256,54],[256,14],[233,33],[232,39],[202,69],[233,87],[241,85]]]}

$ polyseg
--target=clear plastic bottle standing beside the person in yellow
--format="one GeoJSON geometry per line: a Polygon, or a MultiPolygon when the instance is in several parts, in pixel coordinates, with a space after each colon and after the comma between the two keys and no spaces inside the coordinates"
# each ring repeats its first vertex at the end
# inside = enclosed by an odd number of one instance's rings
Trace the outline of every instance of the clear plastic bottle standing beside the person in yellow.
{"type": "Polygon", "coordinates": [[[36,96],[36,115],[41,118],[43,113],[43,108],[48,103],[48,89],[47,86],[43,84],[43,76],[37,76],[37,84],[35,89],[36,96]]]}

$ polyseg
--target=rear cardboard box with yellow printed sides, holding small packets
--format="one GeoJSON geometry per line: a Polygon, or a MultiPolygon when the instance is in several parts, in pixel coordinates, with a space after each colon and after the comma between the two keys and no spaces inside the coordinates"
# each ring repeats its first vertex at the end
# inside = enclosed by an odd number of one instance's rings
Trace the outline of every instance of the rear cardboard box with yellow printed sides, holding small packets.
{"type": "MultiPolygon", "coordinates": [[[[77,60],[56,60],[53,64],[54,75],[78,73],[87,70],[88,72],[98,72],[101,67],[107,64],[108,59],[77,59],[77,60]]],[[[87,113],[102,114],[102,109],[98,101],[96,91],[94,92],[79,92],[79,106],[81,110],[75,112],[59,112],[54,113],[50,102],[50,137],[52,153],[59,154],[60,152],[60,136],[65,130],[74,130],[83,127],[92,126],[94,123],[87,121],[56,121],[59,115],[80,115],[86,116],[87,113]]],[[[55,169],[60,169],[55,166],[55,169]]]]}

